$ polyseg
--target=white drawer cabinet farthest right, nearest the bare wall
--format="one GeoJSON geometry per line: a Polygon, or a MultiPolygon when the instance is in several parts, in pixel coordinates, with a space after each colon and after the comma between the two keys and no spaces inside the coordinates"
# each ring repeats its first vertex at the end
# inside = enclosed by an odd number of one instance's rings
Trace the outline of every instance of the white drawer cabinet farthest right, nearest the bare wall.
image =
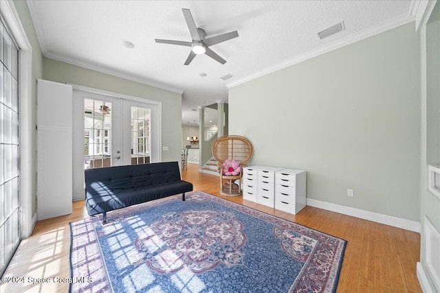
{"type": "Polygon", "coordinates": [[[282,169],[275,172],[275,209],[296,214],[305,205],[305,170],[282,169]]]}

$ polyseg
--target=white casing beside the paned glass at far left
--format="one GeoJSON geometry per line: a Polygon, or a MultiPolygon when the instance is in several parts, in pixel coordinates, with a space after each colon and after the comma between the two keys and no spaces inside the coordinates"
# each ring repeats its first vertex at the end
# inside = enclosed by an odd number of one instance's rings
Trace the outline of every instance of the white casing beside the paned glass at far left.
{"type": "Polygon", "coordinates": [[[26,36],[13,1],[0,1],[0,12],[19,45],[19,117],[20,117],[20,209],[21,238],[29,237],[34,228],[32,216],[32,134],[34,110],[32,104],[32,46],[26,36]]]}

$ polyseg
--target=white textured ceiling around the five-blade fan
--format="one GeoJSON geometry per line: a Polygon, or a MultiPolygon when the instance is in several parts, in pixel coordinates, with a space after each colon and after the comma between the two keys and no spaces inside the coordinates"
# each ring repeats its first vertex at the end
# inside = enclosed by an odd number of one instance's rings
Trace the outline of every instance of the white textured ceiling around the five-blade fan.
{"type": "Polygon", "coordinates": [[[418,2],[27,1],[44,56],[183,93],[182,124],[193,125],[198,106],[228,100],[228,86],[408,23],[418,2]],[[200,55],[185,66],[190,47],[155,43],[191,41],[181,8],[206,37],[239,32],[210,47],[225,65],[200,55]],[[318,38],[341,21],[346,30],[318,38]]]}

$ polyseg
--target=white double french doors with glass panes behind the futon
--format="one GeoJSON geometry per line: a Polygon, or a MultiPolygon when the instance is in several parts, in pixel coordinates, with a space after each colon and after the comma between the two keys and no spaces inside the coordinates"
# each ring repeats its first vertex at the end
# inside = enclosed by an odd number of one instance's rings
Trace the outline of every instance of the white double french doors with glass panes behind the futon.
{"type": "Polygon", "coordinates": [[[85,169],[161,160],[159,104],[151,102],[74,86],[74,200],[84,198],[85,169]]]}

